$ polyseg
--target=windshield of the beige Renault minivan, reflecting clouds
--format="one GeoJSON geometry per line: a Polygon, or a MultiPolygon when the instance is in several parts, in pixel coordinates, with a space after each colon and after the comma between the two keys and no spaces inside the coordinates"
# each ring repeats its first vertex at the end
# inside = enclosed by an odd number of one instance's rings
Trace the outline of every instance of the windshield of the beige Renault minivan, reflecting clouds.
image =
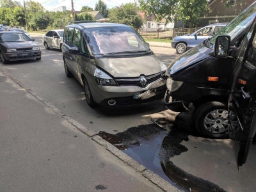
{"type": "Polygon", "coordinates": [[[143,38],[128,27],[88,28],[84,35],[93,54],[150,51],[143,38]]]}

